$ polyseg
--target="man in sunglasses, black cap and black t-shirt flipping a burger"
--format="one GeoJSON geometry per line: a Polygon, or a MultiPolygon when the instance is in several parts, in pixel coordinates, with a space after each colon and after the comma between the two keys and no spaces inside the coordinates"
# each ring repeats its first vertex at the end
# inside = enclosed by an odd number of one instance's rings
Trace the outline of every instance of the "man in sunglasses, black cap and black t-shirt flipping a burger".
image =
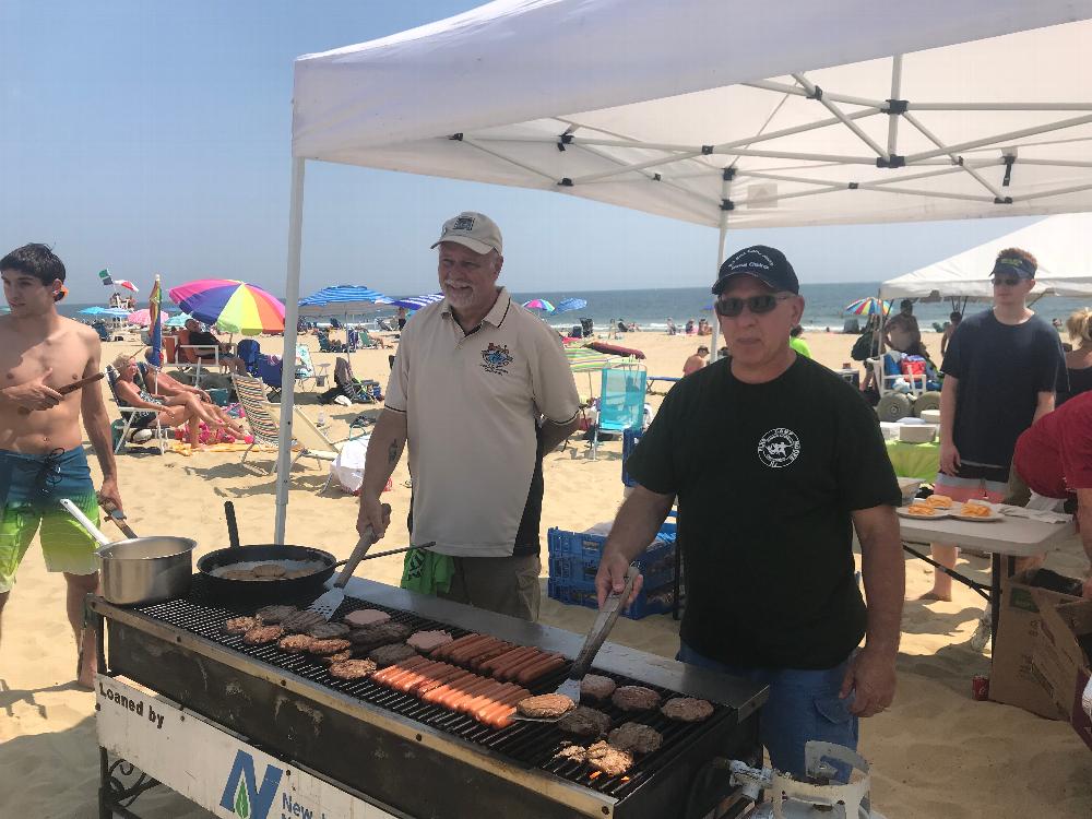
{"type": "Polygon", "coordinates": [[[621,591],[678,498],[687,567],[678,658],[768,685],[762,743],[778,769],[803,775],[808,740],[855,748],[857,717],[894,696],[901,496],[873,411],[788,346],[804,299],[784,254],[739,251],[713,293],[732,358],[679,381],[626,462],[639,486],[595,582],[601,604],[621,591]]]}

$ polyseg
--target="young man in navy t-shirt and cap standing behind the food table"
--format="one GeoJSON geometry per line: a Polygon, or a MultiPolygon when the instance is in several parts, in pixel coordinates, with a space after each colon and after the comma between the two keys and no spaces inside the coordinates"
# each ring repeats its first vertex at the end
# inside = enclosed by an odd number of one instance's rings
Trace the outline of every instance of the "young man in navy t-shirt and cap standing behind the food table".
{"type": "MultiPolygon", "coordinates": [[[[935,490],[954,502],[1000,502],[1017,438],[1054,410],[1066,378],[1058,333],[1028,308],[1038,263],[1008,248],[994,263],[994,307],[963,319],[952,333],[941,367],[940,474],[935,490]]],[[[958,549],[931,544],[933,558],[954,568],[958,549]]],[[[950,601],[952,581],[934,570],[922,600],[950,601]]]]}

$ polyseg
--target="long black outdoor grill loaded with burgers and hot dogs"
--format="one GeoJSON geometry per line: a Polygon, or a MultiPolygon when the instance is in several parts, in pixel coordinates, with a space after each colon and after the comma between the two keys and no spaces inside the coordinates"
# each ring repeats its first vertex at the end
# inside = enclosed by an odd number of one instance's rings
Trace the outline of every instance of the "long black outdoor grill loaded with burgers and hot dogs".
{"type": "MultiPolygon", "coordinates": [[[[356,608],[381,608],[415,629],[488,633],[570,658],[581,643],[566,631],[368,581],[352,581],[348,594],[334,619],[356,608]]],[[[572,737],[555,725],[518,722],[497,731],[368,679],[339,680],[309,655],[288,654],[276,644],[246,645],[222,627],[225,618],[252,614],[253,607],[224,608],[209,598],[200,579],[186,598],[136,609],[95,600],[92,608],[107,624],[110,675],[129,678],[392,816],[701,817],[733,800],[728,773],[714,760],[761,759],[758,708],[764,689],[613,643],[601,651],[595,673],[654,688],[665,698],[685,695],[715,703],[713,716],[702,723],[602,705],[613,725],[636,719],[664,737],[657,751],[619,776],[557,759],[572,737]]],[[[538,679],[532,692],[554,690],[567,673],[568,664],[538,679]]],[[[741,810],[744,800],[738,805],[741,810]]]]}

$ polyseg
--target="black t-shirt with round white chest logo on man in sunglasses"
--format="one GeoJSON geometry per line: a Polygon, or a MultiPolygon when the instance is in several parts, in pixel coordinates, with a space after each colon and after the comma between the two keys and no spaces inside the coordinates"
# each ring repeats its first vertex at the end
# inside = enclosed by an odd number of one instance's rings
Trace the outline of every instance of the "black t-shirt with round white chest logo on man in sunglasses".
{"type": "Polygon", "coordinates": [[[845,381],[803,356],[762,384],[711,364],[675,384],[626,470],[678,496],[690,648],[831,668],[860,642],[850,513],[901,494],[876,415],[845,381]]]}

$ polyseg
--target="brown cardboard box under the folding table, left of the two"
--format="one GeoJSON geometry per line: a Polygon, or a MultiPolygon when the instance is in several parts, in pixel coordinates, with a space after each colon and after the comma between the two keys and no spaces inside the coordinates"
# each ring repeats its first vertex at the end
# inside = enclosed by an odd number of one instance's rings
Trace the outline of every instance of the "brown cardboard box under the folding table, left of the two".
{"type": "Polygon", "coordinates": [[[1029,583],[1031,574],[1013,574],[1002,584],[989,699],[1048,720],[1060,720],[1049,686],[1032,665],[1032,653],[1040,641],[1040,606],[1071,603],[1080,597],[1036,589],[1029,583]]]}

